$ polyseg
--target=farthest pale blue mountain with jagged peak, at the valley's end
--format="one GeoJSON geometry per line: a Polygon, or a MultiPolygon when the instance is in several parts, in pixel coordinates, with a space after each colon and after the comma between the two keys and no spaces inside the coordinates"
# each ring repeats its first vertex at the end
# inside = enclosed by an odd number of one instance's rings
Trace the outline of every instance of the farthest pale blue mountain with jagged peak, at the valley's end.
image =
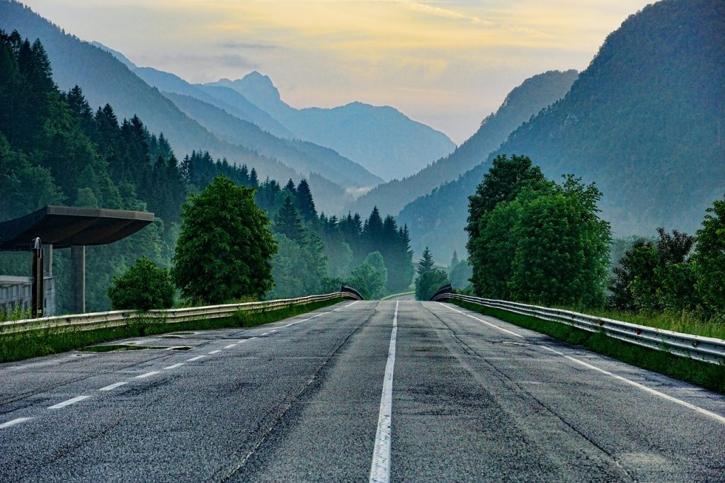
{"type": "Polygon", "coordinates": [[[385,180],[417,173],[455,149],[444,133],[392,107],[352,102],[333,109],[297,110],[282,101],[270,78],[257,72],[212,85],[233,88],[299,139],[330,147],[385,180]]]}

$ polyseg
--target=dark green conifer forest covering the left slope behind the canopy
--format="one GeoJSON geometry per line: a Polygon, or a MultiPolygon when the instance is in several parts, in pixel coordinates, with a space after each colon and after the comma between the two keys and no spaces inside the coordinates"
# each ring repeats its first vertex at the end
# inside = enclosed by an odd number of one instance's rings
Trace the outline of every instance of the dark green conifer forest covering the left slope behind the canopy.
{"type": "MultiPolygon", "coordinates": [[[[149,210],[151,226],[115,244],[88,247],[86,310],[107,310],[107,289],[140,257],[169,267],[182,205],[224,175],[253,188],[273,220],[279,244],[276,286],[268,297],[334,292],[347,282],[367,295],[405,291],[413,279],[410,236],[392,216],[374,209],[337,218],[318,213],[310,185],[260,180],[257,170],[214,160],[205,151],[179,159],[163,133],[150,133],[138,116],[119,120],[106,104],[91,108],[80,87],[62,92],[40,41],[0,32],[0,221],[44,205],[149,210]]],[[[70,254],[57,250],[59,313],[70,307],[70,254]]],[[[0,273],[30,273],[25,253],[0,254],[0,273]]]]}

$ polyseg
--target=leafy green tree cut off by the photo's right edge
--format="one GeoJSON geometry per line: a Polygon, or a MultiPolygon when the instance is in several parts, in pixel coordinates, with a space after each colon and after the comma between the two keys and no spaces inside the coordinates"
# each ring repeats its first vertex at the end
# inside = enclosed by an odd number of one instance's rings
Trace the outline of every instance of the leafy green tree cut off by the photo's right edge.
{"type": "Polygon", "coordinates": [[[697,294],[708,310],[725,314],[725,198],[708,208],[695,247],[697,294]]]}

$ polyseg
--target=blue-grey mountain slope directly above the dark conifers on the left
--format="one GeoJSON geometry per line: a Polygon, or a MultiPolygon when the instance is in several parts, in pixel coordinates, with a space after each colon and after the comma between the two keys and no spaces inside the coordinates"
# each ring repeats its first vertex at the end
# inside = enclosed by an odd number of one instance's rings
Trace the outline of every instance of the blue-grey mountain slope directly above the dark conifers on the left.
{"type": "Polygon", "coordinates": [[[59,88],[67,91],[78,84],[94,109],[108,103],[121,119],[138,115],[149,131],[163,132],[182,157],[194,149],[207,150],[215,157],[254,166],[260,176],[299,178],[299,173],[281,162],[221,141],[112,54],[65,33],[17,1],[0,0],[0,29],[18,30],[22,36],[39,38],[46,46],[59,88]]]}

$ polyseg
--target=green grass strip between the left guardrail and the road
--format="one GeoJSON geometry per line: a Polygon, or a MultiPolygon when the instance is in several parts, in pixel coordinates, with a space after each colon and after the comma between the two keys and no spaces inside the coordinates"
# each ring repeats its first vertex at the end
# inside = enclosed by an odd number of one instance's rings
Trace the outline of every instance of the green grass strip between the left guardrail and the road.
{"type": "Polygon", "coordinates": [[[166,334],[177,331],[260,326],[264,323],[280,321],[283,318],[294,317],[294,315],[327,307],[328,305],[342,302],[342,300],[343,298],[339,297],[326,302],[313,302],[277,310],[262,310],[258,312],[239,311],[231,317],[214,320],[154,323],[144,318],[143,314],[139,314],[130,318],[127,325],[111,329],[96,329],[93,331],[46,329],[45,331],[26,334],[0,334],[0,363],[67,352],[92,344],[100,344],[101,342],[110,342],[128,337],[166,334]]]}

